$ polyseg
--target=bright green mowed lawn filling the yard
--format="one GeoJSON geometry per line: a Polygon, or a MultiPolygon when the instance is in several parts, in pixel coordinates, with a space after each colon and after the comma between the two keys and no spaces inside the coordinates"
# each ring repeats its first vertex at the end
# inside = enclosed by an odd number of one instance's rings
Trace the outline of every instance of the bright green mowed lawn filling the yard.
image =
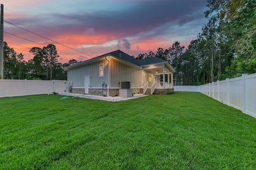
{"type": "Polygon", "coordinates": [[[256,169],[256,119],[196,92],[0,98],[0,169],[256,169]]]}

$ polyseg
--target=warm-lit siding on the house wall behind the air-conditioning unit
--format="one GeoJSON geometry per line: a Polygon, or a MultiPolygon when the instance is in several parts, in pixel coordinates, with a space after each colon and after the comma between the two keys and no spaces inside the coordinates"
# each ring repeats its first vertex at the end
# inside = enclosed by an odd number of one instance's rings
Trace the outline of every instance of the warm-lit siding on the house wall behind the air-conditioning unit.
{"type": "MultiPolygon", "coordinates": [[[[142,72],[145,71],[111,59],[110,88],[119,88],[118,82],[122,81],[130,81],[131,88],[142,88],[142,72]]],[[[147,76],[146,72],[145,74],[147,76]]]]}

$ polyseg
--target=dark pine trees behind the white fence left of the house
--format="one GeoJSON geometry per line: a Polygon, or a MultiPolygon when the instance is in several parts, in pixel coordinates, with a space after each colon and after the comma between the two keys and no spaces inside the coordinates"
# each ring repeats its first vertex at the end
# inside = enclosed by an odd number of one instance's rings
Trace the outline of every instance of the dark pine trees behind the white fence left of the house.
{"type": "Polygon", "coordinates": [[[59,63],[59,55],[53,44],[43,48],[33,47],[29,53],[34,57],[25,61],[22,53],[17,54],[4,42],[4,79],[67,80],[64,67],[77,63],[75,59],[68,63],[59,63]]]}

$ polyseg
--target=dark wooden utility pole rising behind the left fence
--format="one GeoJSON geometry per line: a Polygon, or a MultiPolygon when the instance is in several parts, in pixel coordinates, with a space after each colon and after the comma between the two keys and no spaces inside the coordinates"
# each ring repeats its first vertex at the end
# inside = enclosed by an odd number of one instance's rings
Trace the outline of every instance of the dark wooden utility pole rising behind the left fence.
{"type": "Polygon", "coordinates": [[[0,16],[0,79],[4,79],[4,5],[1,4],[0,16]]]}

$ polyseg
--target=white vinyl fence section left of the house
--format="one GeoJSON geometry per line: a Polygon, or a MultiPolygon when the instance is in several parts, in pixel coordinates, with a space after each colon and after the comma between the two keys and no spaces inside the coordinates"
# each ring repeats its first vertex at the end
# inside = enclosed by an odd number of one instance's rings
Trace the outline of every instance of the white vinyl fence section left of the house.
{"type": "Polygon", "coordinates": [[[65,94],[67,81],[64,80],[0,80],[0,97],[49,94],[65,94]]]}

